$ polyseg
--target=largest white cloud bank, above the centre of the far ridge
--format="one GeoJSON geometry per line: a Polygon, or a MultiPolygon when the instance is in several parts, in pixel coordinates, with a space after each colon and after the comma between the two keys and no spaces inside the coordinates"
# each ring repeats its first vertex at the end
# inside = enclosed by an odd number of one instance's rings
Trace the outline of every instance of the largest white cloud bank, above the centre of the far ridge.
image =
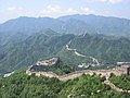
{"type": "Polygon", "coordinates": [[[47,8],[44,8],[42,11],[40,11],[40,15],[41,16],[60,16],[60,15],[66,15],[66,14],[89,14],[89,13],[93,13],[94,11],[92,11],[89,8],[78,8],[78,9],[74,9],[74,8],[62,8],[60,5],[55,5],[55,4],[49,4],[47,5],[47,8]]]}

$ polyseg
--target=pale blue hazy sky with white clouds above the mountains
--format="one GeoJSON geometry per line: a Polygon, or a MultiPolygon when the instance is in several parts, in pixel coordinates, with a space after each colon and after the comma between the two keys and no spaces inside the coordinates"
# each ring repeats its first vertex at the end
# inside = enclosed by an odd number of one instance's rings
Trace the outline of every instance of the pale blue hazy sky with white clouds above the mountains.
{"type": "Polygon", "coordinates": [[[130,0],[0,0],[0,23],[18,16],[96,14],[130,19],[130,0]]]}

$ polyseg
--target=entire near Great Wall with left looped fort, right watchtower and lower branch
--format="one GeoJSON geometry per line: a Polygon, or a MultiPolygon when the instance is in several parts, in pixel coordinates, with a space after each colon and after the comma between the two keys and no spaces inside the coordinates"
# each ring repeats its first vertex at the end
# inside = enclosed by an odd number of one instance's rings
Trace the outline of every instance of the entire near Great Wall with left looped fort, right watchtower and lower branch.
{"type": "Polygon", "coordinates": [[[60,61],[58,58],[52,58],[52,59],[44,60],[44,61],[38,61],[36,63],[36,65],[31,65],[28,70],[26,70],[26,74],[36,75],[36,76],[56,77],[60,81],[68,81],[68,79],[73,79],[73,78],[76,78],[78,76],[81,76],[82,74],[93,75],[95,73],[96,75],[105,76],[106,81],[104,81],[104,84],[109,85],[113,89],[115,89],[117,91],[130,94],[130,90],[123,90],[121,88],[118,88],[113,83],[110,83],[108,81],[110,73],[113,73],[117,76],[120,76],[122,74],[129,75],[130,74],[130,66],[127,65],[129,63],[126,63],[126,62],[120,63],[119,62],[118,63],[119,65],[113,70],[81,70],[81,71],[72,72],[72,73],[65,74],[65,75],[57,75],[53,72],[38,72],[38,71],[36,71],[37,68],[44,69],[44,68],[54,66],[58,63],[58,61],[60,61]]]}

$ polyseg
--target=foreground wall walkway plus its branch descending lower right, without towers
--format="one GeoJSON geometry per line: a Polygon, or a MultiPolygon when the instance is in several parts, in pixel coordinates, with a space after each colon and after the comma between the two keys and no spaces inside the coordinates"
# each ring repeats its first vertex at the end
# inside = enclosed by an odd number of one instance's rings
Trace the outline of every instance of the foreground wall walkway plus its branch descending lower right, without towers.
{"type": "Polygon", "coordinates": [[[72,73],[65,74],[65,75],[57,75],[53,72],[34,72],[34,71],[31,72],[29,69],[26,71],[26,74],[28,74],[28,75],[56,77],[60,81],[73,79],[73,78],[81,76],[82,74],[93,75],[94,73],[98,74],[98,75],[101,75],[101,76],[105,76],[106,81],[104,81],[104,84],[109,85],[116,91],[130,94],[130,90],[123,90],[122,88],[118,88],[117,86],[115,86],[113,83],[110,83],[108,81],[108,77],[109,77],[110,73],[114,73],[117,76],[120,76],[121,74],[125,74],[123,71],[119,71],[119,70],[96,70],[96,71],[82,70],[82,71],[72,72],[72,73]]]}

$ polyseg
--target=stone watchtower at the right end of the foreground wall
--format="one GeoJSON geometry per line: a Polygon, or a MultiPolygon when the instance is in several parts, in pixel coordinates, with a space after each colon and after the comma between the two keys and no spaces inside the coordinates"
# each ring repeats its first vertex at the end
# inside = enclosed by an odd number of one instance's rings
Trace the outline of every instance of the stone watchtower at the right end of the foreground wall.
{"type": "Polygon", "coordinates": [[[116,70],[121,74],[130,75],[130,62],[117,62],[116,70]]]}

